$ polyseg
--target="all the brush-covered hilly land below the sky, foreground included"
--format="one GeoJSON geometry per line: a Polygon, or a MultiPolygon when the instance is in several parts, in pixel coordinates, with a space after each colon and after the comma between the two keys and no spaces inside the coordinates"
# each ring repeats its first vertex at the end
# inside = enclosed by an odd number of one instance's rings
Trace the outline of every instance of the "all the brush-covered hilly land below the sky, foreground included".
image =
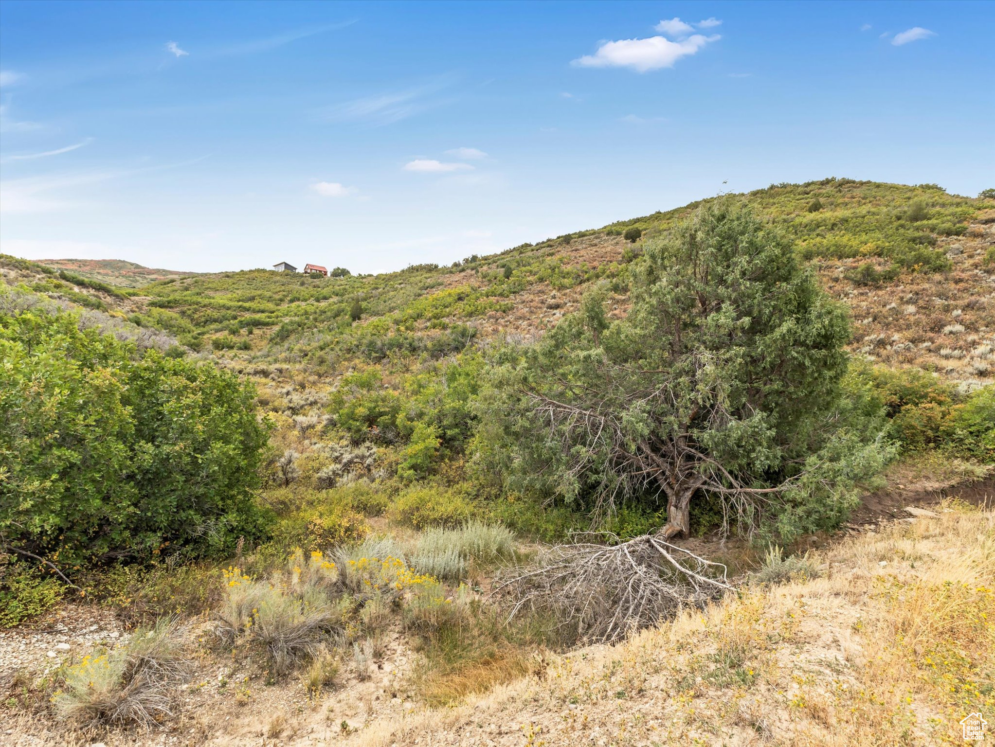
{"type": "Polygon", "coordinates": [[[995,191],[776,184],[346,268],[0,256],[0,742],[995,714],[995,191]]]}

